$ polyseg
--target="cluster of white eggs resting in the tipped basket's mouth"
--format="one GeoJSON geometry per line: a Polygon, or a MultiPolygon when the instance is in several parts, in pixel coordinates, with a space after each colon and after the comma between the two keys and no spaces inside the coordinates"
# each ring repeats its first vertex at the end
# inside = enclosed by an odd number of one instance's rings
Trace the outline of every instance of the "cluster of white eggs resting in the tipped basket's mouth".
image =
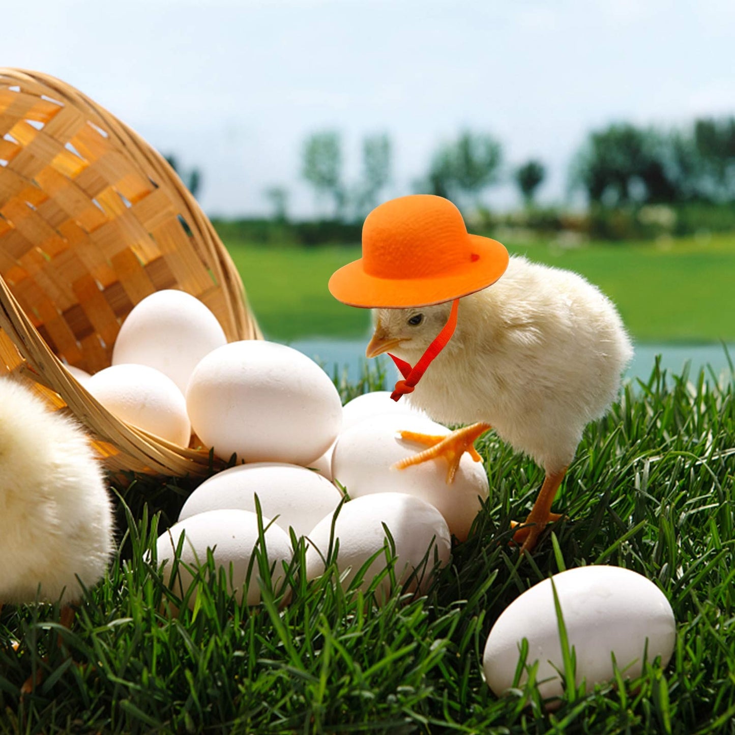
{"type": "Polygon", "coordinates": [[[307,465],[340,429],[339,395],[315,362],[261,340],[228,344],[215,315],[183,291],[140,301],[110,368],[75,375],[126,423],[181,446],[193,431],[225,460],[307,465]]]}

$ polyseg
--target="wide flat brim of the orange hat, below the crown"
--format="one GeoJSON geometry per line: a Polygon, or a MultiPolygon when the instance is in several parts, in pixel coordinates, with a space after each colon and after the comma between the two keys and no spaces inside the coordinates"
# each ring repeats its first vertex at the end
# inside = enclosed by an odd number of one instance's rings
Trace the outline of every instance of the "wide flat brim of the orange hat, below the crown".
{"type": "Polygon", "coordinates": [[[494,284],[508,267],[508,251],[490,237],[469,234],[476,260],[450,273],[431,278],[384,279],[370,276],[362,258],[343,265],[329,279],[329,292],[337,301],[363,309],[403,309],[431,306],[475,293],[494,284]]]}

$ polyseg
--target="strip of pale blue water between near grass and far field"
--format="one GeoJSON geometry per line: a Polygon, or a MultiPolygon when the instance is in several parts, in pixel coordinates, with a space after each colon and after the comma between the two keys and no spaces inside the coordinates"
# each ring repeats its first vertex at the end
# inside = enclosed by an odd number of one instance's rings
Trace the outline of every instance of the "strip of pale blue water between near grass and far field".
{"type": "MultiPolygon", "coordinates": [[[[335,366],[340,373],[346,368],[350,381],[356,381],[361,367],[366,362],[373,364],[381,361],[388,376],[395,373],[390,358],[381,355],[374,360],[365,359],[365,345],[369,337],[360,340],[296,340],[291,346],[312,359],[331,375],[335,366]]],[[[735,362],[735,344],[729,344],[728,350],[731,359],[735,362]]],[[[721,344],[714,345],[666,345],[666,344],[639,344],[636,345],[635,355],[631,365],[625,373],[628,378],[647,380],[653,370],[656,355],[661,355],[661,368],[670,375],[681,375],[687,361],[691,363],[690,375],[697,375],[700,368],[710,365],[714,374],[720,376],[729,373],[729,366],[725,349],[721,344]]]]}

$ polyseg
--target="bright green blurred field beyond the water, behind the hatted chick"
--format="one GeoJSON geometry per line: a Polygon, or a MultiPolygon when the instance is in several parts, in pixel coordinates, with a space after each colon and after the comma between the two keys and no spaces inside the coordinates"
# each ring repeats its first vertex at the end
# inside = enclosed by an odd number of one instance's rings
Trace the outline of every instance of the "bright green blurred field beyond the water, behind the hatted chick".
{"type": "MultiPolygon", "coordinates": [[[[665,246],[506,244],[512,253],[576,270],[597,284],[639,342],[735,340],[735,235],[682,238],[665,246]]],[[[265,248],[232,240],[226,245],[268,337],[362,337],[368,331],[368,312],[338,303],[326,287],[334,270],[360,256],[359,247],[265,248]]]]}

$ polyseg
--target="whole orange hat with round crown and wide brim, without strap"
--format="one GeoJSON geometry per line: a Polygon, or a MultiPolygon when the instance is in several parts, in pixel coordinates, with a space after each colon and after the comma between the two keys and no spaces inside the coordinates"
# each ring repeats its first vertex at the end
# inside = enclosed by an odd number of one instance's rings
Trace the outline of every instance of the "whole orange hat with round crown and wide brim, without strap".
{"type": "Polygon", "coordinates": [[[370,212],[362,226],[362,258],[335,271],[329,291],[350,306],[429,306],[490,286],[507,266],[506,248],[467,234],[451,201],[414,194],[370,212]]]}

